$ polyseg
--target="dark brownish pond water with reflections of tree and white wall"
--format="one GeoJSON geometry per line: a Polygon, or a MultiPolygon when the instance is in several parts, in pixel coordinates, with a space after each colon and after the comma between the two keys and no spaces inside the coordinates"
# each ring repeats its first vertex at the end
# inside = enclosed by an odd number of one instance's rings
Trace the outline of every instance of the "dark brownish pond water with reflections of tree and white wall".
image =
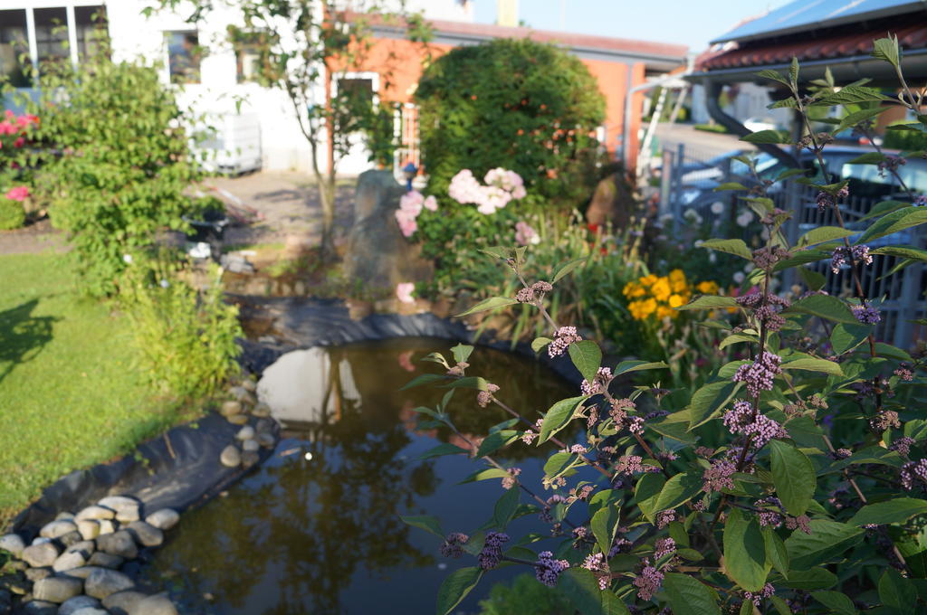
{"type": "MultiPolygon", "coordinates": [[[[413,408],[434,407],[444,391],[399,391],[420,373],[438,372],[418,359],[433,351],[450,356],[451,345],[400,339],[281,358],[259,384],[284,424],[273,456],[226,496],[185,513],[143,578],[168,589],[184,613],[434,613],[441,581],[475,559],[441,558],[438,538],[399,516],[431,514],[445,533],[469,532],[491,518],[502,495],[499,480],[457,484],[480,467],[464,456],[419,459],[442,442],[465,446],[452,433],[417,425],[413,408]]],[[[576,395],[526,358],[477,347],[470,363],[468,374],[499,383],[501,398],[526,416],[576,395]]],[[[464,434],[485,434],[509,418],[500,408],[479,408],[466,389],[449,411],[464,434]]],[[[540,490],[541,456],[550,452],[517,443],[507,460],[540,490]]],[[[513,530],[546,532],[535,515],[514,521],[513,530]]],[[[524,571],[503,568],[489,581],[524,571]]],[[[490,586],[478,586],[458,612],[478,612],[490,586]]]]}

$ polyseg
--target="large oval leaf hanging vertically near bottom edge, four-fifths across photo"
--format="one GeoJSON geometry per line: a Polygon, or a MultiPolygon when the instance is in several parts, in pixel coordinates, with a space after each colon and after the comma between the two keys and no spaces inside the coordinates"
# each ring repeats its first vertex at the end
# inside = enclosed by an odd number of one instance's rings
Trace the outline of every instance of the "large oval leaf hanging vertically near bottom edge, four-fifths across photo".
{"type": "Polygon", "coordinates": [[[766,541],[756,519],[747,520],[731,508],[724,527],[724,568],[730,580],[748,592],[763,589],[769,570],[766,541]]]}

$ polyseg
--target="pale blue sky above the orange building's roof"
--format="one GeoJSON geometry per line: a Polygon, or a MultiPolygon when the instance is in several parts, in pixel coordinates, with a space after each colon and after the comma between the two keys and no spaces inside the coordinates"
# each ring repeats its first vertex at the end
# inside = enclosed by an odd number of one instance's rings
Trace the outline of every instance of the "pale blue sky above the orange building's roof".
{"type": "MultiPolygon", "coordinates": [[[[685,44],[701,52],[738,21],[790,0],[519,0],[518,16],[537,30],[685,44]]],[[[474,0],[476,21],[494,23],[496,0],[474,0]]]]}

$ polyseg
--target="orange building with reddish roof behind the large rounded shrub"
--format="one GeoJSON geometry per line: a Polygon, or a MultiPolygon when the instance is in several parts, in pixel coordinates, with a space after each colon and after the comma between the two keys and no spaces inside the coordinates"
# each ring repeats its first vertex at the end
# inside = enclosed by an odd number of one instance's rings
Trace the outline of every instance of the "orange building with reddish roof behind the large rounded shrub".
{"type": "Polygon", "coordinates": [[[418,164],[417,126],[413,94],[422,74],[426,54],[432,58],[442,56],[451,48],[464,44],[479,44],[496,38],[529,38],[541,43],[556,44],[578,58],[599,82],[605,98],[605,123],[600,138],[609,152],[628,151],[625,157],[629,168],[634,166],[639,147],[643,93],[633,94],[629,121],[629,147],[624,148],[625,99],[630,89],[645,82],[648,77],[663,75],[676,69],[685,59],[687,47],[679,44],[633,41],[567,32],[538,31],[529,28],[511,28],[461,21],[430,20],[431,41],[425,46],[406,39],[400,24],[375,22],[374,42],[364,54],[359,75],[388,75],[377,80],[374,88],[382,99],[406,103],[400,129],[402,159],[411,158],[418,164]],[[382,86],[379,84],[382,82],[382,86]]]}

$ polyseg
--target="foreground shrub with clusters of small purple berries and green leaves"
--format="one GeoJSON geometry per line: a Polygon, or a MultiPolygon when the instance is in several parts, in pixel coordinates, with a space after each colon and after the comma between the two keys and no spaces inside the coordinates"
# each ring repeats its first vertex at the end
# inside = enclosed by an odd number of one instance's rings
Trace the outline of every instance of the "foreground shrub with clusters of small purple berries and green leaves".
{"type": "MultiPolygon", "coordinates": [[[[892,39],[877,42],[876,50],[897,63],[892,39]]],[[[805,94],[797,62],[788,75],[763,76],[791,90],[790,106],[799,114],[808,105],[883,97],[859,85],[844,87],[839,97],[823,86],[805,94]]],[[[920,103],[909,92],[900,99],[920,103]]],[[[841,121],[866,132],[878,112],[855,111],[841,121]]],[[[826,141],[809,133],[799,145],[819,153],[826,141]]],[[[892,165],[885,170],[894,172],[892,165]]],[[[472,443],[480,467],[470,480],[501,480],[489,521],[464,535],[462,528],[445,533],[431,517],[405,519],[438,535],[443,553],[472,562],[441,585],[439,615],[502,565],[530,567],[584,615],[927,609],[927,352],[922,343],[912,351],[875,339],[880,298],[865,295],[860,282],[870,255],[903,254],[904,265],[927,260],[917,247],[866,248],[927,222],[927,209],[912,205],[911,195],[907,203],[876,206],[865,229],[849,230],[841,217],[846,182],[814,185],[837,225],[812,229],[790,245],[781,227],[792,214],[761,190],[744,201],[767,231],[765,245],[705,242],[752,263],[747,282],[756,289],[738,297],[699,295],[678,307],[735,309],[736,326],[711,326],[724,329],[722,344],[747,353],[688,390],[660,387],[666,363],[603,365],[600,345],[552,316],[553,297],[575,263],[539,280],[526,268],[527,247],[487,250],[514,272],[520,296],[491,297],[469,311],[519,302],[536,309],[547,336],[532,347],[572,361],[583,382],[578,395],[546,411],[516,409],[506,383],[467,372],[474,348],[458,345],[452,361],[429,357],[442,373],[407,385],[447,387],[442,404],[418,411],[451,429],[442,406],[458,389],[476,389],[474,411],[493,404],[512,416],[472,443]],[[827,295],[810,275],[799,278],[804,287],[783,292],[784,272],[828,259],[848,276],[853,295],[827,295]],[[581,435],[561,440],[577,423],[581,435]],[[539,484],[496,458],[518,446],[550,448],[539,484]],[[549,535],[509,535],[510,522],[526,515],[539,517],[549,535]]],[[[461,451],[438,446],[429,453],[439,454],[461,451]]]]}

